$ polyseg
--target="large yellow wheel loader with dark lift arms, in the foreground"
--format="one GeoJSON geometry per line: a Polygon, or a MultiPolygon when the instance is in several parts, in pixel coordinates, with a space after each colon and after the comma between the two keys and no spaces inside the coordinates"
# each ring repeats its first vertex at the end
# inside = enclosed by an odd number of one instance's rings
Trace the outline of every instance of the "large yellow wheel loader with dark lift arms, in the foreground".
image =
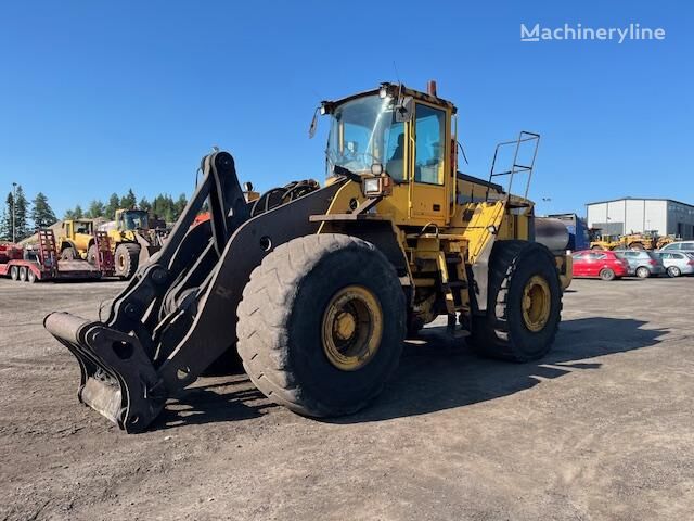
{"type": "Polygon", "coordinates": [[[348,415],[378,395],[406,335],[440,315],[484,356],[549,352],[571,271],[565,246],[535,241],[527,185],[539,136],[501,143],[511,166],[494,170],[494,160],[481,180],[458,171],[457,110],[433,85],[381,84],[320,113],[323,187],[298,181],[247,202],[232,155],[215,151],[168,241],[107,315],[46,317],[79,361],[80,402],[142,431],[236,350],[272,402],[348,415]],[[523,145],[535,147],[527,161],[523,145]],[[209,219],[191,226],[205,204],[209,219]]]}

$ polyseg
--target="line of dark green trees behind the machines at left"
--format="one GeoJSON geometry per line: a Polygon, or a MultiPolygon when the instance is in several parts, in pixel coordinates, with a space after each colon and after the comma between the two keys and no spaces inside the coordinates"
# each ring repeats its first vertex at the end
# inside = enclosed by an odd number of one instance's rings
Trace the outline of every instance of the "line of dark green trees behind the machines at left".
{"type": "MultiPolygon", "coordinates": [[[[97,219],[103,218],[113,220],[118,208],[140,208],[146,209],[152,216],[164,219],[167,223],[175,221],[187,204],[184,193],[178,199],[169,194],[159,193],[152,201],[141,198],[139,201],[129,189],[124,195],[112,193],[106,203],[95,199],[92,200],[87,209],[77,204],[74,208],[65,212],[63,219],[97,219]]],[[[47,228],[57,218],[48,202],[44,193],[38,192],[34,200],[27,200],[21,185],[14,191],[8,193],[5,204],[0,214],[0,241],[21,241],[35,233],[38,228],[47,228]],[[14,237],[13,237],[14,230],[14,237]]]]}

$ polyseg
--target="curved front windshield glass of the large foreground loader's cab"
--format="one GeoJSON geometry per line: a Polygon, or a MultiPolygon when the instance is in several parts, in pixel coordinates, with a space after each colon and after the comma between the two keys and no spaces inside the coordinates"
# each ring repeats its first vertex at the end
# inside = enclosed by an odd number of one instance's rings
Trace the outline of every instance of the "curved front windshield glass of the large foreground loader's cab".
{"type": "Polygon", "coordinates": [[[335,165],[356,174],[381,164],[396,180],[402,180],[404,124],[395,120],[393,98],[368,96],[339,105],[331,115],[326,176],[335,165]]]}

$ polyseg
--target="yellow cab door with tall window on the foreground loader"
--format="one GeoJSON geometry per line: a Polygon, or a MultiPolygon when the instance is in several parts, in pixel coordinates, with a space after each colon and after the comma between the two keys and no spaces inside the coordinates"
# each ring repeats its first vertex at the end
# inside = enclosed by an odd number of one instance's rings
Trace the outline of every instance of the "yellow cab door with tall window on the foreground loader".
{"type": "Polygon", "coordinates": [[[449,221],[451,190],[450,114],[415,102],[411,123],[408,164],[410,217],[413,220],[446,225],[449,221]]]}

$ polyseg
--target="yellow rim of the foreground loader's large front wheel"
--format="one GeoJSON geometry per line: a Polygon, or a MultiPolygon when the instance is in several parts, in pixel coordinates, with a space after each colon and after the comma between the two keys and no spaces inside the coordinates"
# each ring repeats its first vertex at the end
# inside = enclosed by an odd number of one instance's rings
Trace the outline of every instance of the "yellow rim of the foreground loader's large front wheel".
{"type": "Polygon", "coordinates": [[[331,298],[321,327],[323,351],[343,371],[371,361],[383,336],[383,312],[375,295],[361,285],[348,285],[331,298]]]}

